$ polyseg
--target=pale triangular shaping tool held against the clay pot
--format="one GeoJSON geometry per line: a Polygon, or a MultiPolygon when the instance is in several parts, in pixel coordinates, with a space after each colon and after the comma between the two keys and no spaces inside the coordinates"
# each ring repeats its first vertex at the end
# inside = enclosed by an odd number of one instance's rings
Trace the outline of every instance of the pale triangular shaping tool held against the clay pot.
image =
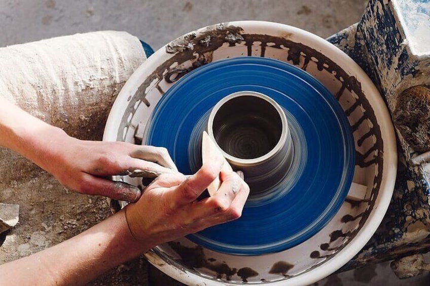
{"type": "MultiPolygon", "coordinates": [[[[202,162],[203,164],[207,161],[217,159],[218,157],[222,157],[224,160],[224,164],[222,167],[222,171],[233,171],[230,164],[228,164],[226,158],[223,153],[221,153],[220,149],[217,145],[209,138],[209,135],[206,131],[203,131],[203,139],[202,139],[202,162]]],[[[221,180],[220,177],[217,177],[213,180],[212,183],[207,187],[207,191],[210,196],[213,196],[217,190],[220,188],[221,180]]]]}

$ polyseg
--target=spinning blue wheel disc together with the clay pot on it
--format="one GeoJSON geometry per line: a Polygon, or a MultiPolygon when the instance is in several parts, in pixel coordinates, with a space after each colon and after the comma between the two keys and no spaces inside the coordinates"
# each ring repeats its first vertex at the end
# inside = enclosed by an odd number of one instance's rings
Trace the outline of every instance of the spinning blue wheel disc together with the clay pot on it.
{"type": "Polygon", "coordinates": [[[165,146],[178,170],[193,174],[208,120],[209,135],[244,172],[250,196],[239,220],[190,240],[229,254],[277,252],[304,241],[337,212],[353,176],[353,139],[339,103],[309,74],[260,57],[204,65],[160,99],[145,143],[165,146]]]}

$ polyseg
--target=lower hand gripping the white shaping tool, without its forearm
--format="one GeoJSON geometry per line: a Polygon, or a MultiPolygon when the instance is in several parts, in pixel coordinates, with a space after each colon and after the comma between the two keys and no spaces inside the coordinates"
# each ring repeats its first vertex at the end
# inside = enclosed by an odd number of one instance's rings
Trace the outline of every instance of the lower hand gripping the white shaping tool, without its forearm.
{"type": "Polygon", "coordinates": [[[222,170],[222,158],[206,162],[193,176],[163,174],[150,184],[136,203],[125,208],[132,235],[157,244],[237,219],[249,194],[248,185],[233,171],[222,170]],[[197,201],[218,176],[213,196],[197,201]]]}

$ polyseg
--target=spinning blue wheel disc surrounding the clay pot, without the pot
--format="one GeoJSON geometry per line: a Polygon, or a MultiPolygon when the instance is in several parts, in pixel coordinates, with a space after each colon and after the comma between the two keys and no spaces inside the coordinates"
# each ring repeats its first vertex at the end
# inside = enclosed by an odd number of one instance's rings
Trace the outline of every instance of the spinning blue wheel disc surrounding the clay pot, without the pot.
{"type": "MultiPolygon", "coordinates": [[[[240,91],[265,94],[284,109],[294,144],[292,165],[263,193],[253,195],[251,187],[240,219],[188,238],[229,254],[278,252],[319,231],[339,210],[352,181],[355,149],[348,120],[315,78],[267,58],[207,64],[182,77],[161,98],[145,141],[166,147],[180,172],[195,173],[201,166],[201,134],[210,110],[240,91]]],[[[270,171],[262,168],[261,176],[270,177],[270,171]]]]}

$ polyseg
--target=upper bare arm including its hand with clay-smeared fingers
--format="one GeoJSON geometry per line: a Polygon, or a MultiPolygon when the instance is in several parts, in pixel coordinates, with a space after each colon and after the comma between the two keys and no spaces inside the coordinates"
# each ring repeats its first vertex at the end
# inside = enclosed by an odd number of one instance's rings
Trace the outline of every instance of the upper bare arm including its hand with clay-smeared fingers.
{"type": "Polygon", "coordinates": [[[165,148],[72,138],[1,96],[0,145],[35,162],[72,190],[121,200],[136,201],[140,190],[103,177],[177,172],[165,148]]]}

